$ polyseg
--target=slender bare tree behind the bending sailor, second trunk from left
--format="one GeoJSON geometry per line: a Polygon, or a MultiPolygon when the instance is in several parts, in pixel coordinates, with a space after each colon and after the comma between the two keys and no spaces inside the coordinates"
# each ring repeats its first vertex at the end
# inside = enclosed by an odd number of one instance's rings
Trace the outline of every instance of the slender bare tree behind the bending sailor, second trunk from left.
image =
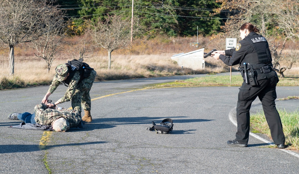
{"type": "Polygon", "coordinates": [[[36,49],[35,56],[46,61],[48,72],[51,69],[52,62],[62,50],[61,43],[65,35],[64,14],[56,8],[50,9],[44,18],[44,27],[42,28],[42,37],[32,41],[32,47],[36,49]],[[47,16],[46,16],[47,15],[47,16]]]}

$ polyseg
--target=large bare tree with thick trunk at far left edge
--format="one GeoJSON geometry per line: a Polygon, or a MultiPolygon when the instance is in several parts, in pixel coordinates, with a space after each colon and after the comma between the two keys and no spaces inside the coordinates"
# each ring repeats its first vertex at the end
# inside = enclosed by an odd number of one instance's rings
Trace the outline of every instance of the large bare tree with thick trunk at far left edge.
{"type": "Polygon", "coordinates": [[[47,0],[0,0],[0,40],[9,47],[10,74],[14,74],[14,47],[44,34],[44,18],[51,11],[47,0]]]}

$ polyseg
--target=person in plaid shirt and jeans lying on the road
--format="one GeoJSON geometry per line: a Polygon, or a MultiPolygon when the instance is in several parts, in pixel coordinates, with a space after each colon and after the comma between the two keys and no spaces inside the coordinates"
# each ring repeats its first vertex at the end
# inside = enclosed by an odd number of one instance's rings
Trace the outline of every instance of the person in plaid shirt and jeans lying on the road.
{"type": "Polygon", "coordinates": [[[63,109],[55,106],[48,108],[48,104],[38,104],[34,107],[34,113],[11,113],[10,120],[21,120],[25,123],[52,125],[57,132],[65,132],[70,127],[76,127],[81,119],[80,112],[76,110],[63,109]]]}

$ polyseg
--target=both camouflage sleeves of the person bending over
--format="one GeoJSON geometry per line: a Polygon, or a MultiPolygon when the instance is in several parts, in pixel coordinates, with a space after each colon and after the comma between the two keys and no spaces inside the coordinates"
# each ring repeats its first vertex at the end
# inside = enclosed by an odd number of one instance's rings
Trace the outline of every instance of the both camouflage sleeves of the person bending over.
{"type": "MultiPolygon", "coordinates": [[[[70,84],[68,85],[68,89],[66,90],[64,96],[58,100],[59,103],[63,103],[65,101],[70,101],[72,96],[74,95],[76,91],[76,87],[78,84],[78,81],[80,80],[80,73],[77,71],[74,74],[74,77],[71,79],[70,84]]],[[[56,74],[52,80],[52,83],[49,87],[48,92],[51,94],[57,89],[58,85],[60,84],[60,81],[57,80],[56,74]]]]}

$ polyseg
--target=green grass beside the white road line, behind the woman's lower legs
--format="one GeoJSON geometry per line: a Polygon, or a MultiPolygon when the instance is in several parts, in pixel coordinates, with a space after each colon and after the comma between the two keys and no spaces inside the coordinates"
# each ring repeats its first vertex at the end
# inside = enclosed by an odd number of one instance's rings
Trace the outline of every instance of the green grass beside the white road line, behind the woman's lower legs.
{"type": "MultiPolygon", "coordinates": [[[[288,149],[299,150],[299,111],[287,112],[286,110],[278,110],[278,113],[283,124],[283,132],[288,149]]],[[[250,124],[254,132],[263,133],[271,137],[263,111],[251,114],[250,124]]]]}

